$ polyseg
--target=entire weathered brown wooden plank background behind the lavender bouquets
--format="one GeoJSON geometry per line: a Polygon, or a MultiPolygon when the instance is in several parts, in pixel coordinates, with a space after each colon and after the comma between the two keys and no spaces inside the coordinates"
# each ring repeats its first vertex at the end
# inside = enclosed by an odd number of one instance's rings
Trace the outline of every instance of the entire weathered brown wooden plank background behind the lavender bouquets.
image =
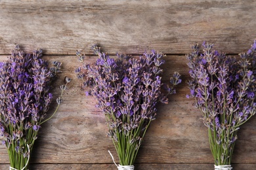
{"type": "MultiPolygon", "coordinates": [[[[111,55],[161,51],[167,54],[163,80],[174,71],[182,75],[177,94],[169,96],[168,105],[158,105],[135,169],[214,169],[201,113],[185,97],[185,54],[190,44],[203,41],[230,55],[247,52],[256,38],[255,16],[253,0],[0,0],[0,60],[16,44],[26,52],[43,48],[45,59],[63,63],[55,97],[64,76],[72,78],[58,113],[41,128],[30,169],[117,169],[108,154],[110,150],[117,160],[104,116],[95,99],[80,90],[74,73],[79,66],[75,50],[87,54],[88,62],[96,60],[93,42],[111,55]]],[[[256,118],[241,127],[238,138],[232,166],[256,169],[256,118]]],[[[9,169],[2,145],[0,169],[9,169]]]]}

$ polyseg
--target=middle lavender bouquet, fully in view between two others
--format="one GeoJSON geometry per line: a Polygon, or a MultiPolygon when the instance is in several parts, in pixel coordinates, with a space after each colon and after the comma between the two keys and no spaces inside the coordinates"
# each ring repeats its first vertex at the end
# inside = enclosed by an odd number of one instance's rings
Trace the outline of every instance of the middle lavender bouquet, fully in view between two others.
{"type": "MultiPolygon", "coordinates": [[[[84,64],[75,72],[83,86],[90,87],[86,93],[96,98],[97,106],[104,112],[108,136],[119,157],[118,169],[134,169],[142,139],[156,118],[156,104],[168,102],[167,95],[175,93],[174,86],[181,83],[180,75],[174,73],[171,86],[163,84],[160,65],[165,62],[164,55],[154,50],[139,59],[123,54],[110,58],[96,45],[93,51],[98,54],[96,63],[84,64]],[[163,94],[163,88],[167,94],[163,94]]],[[[78,51],[77,56],[83,62],[85,56],[78,51]]]]}

